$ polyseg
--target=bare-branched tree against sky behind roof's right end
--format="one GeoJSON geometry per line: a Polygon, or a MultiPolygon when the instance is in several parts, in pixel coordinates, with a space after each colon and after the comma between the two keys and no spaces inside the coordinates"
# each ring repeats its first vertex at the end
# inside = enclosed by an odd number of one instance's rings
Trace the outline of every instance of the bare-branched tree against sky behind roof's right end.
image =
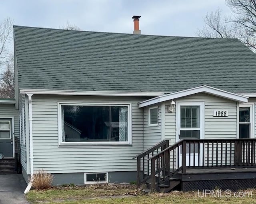
{"type": "Polygon", "coordinates": [[[256,0],[226,0],[232,15],[223,18],[220,9],[204,17],[200,37],[238,38],[256,53],[256,0]]]}

